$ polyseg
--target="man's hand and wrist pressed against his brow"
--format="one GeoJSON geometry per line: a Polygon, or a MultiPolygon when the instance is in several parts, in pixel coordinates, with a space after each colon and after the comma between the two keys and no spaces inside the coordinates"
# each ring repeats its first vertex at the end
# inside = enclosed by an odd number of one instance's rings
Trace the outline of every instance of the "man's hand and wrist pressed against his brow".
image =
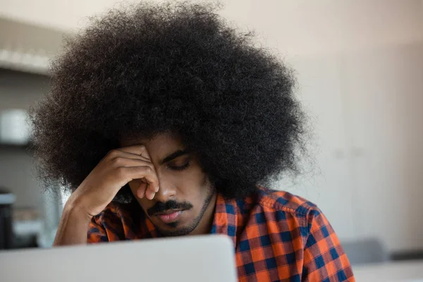
{"type": "Polygon", "coordinates": [[[153,199],[159,180],[147,149],[135,145],[111,150],[72,193],[66,204],[92,217],[113,200],[130,180],[140,179],[137,197],[153,199]]]}

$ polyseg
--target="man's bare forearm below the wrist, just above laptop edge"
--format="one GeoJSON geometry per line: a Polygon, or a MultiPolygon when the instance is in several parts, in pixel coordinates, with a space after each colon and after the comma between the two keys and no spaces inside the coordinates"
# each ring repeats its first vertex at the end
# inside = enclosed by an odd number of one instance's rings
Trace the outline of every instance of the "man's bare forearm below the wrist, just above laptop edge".
{"type": "Polygon", "coordinates": [[[80,209],[66,204],[59,227],[57,228],[54,246],[81,245],[87,243],[87,233],[91,216],[80,209]]]}

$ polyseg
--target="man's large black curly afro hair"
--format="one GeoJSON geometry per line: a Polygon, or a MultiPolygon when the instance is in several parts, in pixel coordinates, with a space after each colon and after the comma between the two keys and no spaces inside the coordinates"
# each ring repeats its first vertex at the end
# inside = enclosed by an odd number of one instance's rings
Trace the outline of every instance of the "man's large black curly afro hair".
{"type": "MultiPolygon", "coordinates": [[[[44,183],[75,190],[122,136],[163,132],[197,153],[224,197],[298,171],[305,115],[293,72],[216,8],[118,8],[66,40],[51,90],[30,111],[44,183]]],[[[114,201],[131,197],[122,189],[114,201]]]]}

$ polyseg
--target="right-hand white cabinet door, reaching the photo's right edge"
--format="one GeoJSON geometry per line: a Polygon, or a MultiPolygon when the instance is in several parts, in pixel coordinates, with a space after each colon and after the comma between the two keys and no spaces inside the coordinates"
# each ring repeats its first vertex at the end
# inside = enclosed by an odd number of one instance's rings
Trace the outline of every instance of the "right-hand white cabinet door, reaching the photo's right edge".
{"type": "Polygon", "coordinates": [[[423,42],[345,55],[341,73],[357,227],[423,248],[423,42]]]}

